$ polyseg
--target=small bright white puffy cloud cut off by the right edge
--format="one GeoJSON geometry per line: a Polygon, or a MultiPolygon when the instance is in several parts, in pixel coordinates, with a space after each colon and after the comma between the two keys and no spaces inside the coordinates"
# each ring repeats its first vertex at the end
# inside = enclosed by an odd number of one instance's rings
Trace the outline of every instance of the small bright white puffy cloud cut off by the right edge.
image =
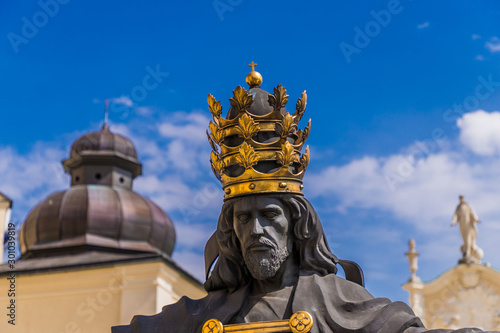
{"type": "Polygon", "coordinates": [[[500,112],[478,110],[466,113],[457,121],[460,142],[484,156],[500,153],[500,112]]]}

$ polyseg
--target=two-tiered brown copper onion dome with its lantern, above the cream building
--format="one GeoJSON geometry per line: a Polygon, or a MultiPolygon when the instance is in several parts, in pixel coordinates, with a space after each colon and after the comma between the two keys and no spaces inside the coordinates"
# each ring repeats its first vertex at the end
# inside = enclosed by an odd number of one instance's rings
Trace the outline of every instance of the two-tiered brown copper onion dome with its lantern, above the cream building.
{"type": "Polygon", "coordinates": [[[130,140],[105,124],[78,138],[62,163],[71,187],[29,213],[19,237],[23,258],[88,250],[172,254],[172,221],[132,190],[142,165],[130,140]]]}

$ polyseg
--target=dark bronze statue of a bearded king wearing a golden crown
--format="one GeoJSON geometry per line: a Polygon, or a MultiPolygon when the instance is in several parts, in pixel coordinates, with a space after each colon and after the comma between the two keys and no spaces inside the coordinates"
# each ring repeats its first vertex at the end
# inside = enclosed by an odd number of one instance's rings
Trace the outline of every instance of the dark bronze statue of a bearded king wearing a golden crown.
{"type": "Polygon", "coordinates": [[[290,114],[285,88],[262,90],[262,76],[250,66],[249,89],[236,87],[225,118],[208,95],[211,164],[225,199],[205,247],[208,295],[135,316],[113,333],[427,332],[406,304],[374,298],[359,266],[330,251],[302,194],[309,149],[301,151],[311,123],[298,125],[307,95],[290,114]],[[346,279],[336,275],[337,265],[346,279]]]}

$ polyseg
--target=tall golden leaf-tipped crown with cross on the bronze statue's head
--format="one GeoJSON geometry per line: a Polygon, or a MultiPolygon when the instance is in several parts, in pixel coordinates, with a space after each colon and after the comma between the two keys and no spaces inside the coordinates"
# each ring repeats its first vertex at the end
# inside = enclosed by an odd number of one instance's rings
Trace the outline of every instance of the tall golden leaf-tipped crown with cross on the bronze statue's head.
{"type": "Polygon", "coordinates": [[[302,178],[309,164],[309,146],[305,154],[300,151],[309,136],[311,120],[304,130],[298,129],[306,110],[306,92],[290,115],[285,109],[285,88],[279,84],[274,94],[260,89],[262,76],[255,65],[253,61],[249,65],[252,71],[246,79],[250,89],[237,86],[233,90],[225,119],[220,101],[211,94],[207,98],[213,116],[207,131],[213,149],[210,162],[222,183],[225,200],[257,193],[302,194],[302,178]]]}

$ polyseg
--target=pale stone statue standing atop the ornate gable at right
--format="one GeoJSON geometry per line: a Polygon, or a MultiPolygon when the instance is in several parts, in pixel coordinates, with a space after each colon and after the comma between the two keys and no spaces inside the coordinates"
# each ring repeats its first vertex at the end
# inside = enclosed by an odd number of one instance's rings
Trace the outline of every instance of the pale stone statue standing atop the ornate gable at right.
{"type": "Polygon", "coordinates": [[[462,259],[459,263],[477,263],[481,262],[483,257],[483,250],[481,250],[476,245],[477,229],[476,223],[479,223],[479,218],[477,217],[474,209],[465,201],[464,196],[459,196],[460,203],[455,210],[455,215],[453,216],[453,221],[451,226],[457,224],[460,225],[460,233],[462,234],[462,239],[464,244],[460,248],[462,251],[462,259]]]}

